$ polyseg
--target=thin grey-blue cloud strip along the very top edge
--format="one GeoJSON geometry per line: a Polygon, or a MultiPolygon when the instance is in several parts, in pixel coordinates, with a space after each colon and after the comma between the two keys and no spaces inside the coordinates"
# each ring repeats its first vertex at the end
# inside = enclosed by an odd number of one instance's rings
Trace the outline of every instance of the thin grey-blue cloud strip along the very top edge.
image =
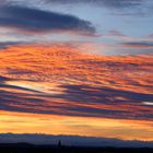
{"type": "MultiPolygon", "coordinates": [[[[4,1],[4,0],[3,0],[4,1]]],[[[126,9],[126,8],[136,8],[139,5],[143,5],[146,1],[144,0],[31,0],[30,2],[25,2],[24,0],[5,0],[11,4],[28,4],[37,5],[37,3],[46,3],[46,4],[78,4],[78,3],[86,3],[94,4],[98,7],[107,7],[111,9],[126,9]]]]}

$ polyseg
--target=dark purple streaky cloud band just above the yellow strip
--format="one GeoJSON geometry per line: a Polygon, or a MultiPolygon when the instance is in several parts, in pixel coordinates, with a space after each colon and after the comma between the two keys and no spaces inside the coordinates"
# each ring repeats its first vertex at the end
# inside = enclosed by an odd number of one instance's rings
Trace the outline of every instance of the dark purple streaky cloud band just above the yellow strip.
{"type": "Polygon", "coordinates": [[[4,83],[7,80],[8,78],[0,78],[0,109],[2,110],[140,120],[153,118],[151,107],[142,105],[143,102],[153,99],[150,94],[67,84],[60,86],[64,90],[62,94],[44,95],[43,92],[35,90],[8,85],[4,83]],[[13,92],[14,90],[23,93],[13,92]],[[46,98],[51,103],[47,103],[46,98]]]}

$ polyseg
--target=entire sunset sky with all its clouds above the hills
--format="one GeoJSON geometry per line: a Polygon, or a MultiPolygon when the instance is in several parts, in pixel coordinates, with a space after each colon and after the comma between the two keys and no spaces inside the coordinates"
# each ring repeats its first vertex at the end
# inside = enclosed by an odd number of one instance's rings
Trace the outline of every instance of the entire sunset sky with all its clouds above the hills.
{"type": "Polygon", "coordinates": [[[0,0],[0,134],[152,142],[152,0],[0,0]]]}

